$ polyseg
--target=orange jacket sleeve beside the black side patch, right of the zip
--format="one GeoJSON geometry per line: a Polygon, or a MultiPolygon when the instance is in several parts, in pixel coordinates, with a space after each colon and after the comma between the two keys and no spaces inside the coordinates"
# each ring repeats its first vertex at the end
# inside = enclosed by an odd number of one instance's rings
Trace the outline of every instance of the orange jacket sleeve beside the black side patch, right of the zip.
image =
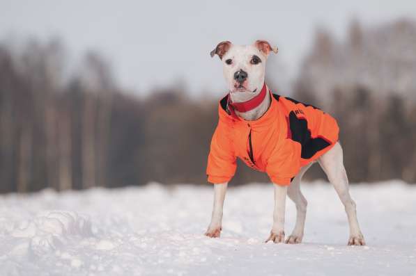
{"type": "Polygon", "coordinates": [[[282,143],[276,145],[265,168],[274,184],[282,186],[291,184],[291,179],[300,170],[301,150],[300,143],[291,139],[284,139],[282,143]]]}

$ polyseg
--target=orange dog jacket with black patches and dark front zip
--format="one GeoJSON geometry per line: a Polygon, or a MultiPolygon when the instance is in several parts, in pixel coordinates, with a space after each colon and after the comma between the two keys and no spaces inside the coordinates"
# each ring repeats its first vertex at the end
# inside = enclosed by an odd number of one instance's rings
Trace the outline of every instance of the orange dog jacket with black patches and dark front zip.
{"type": "Polygon", "coordinates": [[[229,111],[226,95],[219,101],[219,122],[213,134],[206,174],[213,184],[230,181],[236,158],[266,172],[274,184],[289,185],[300,168],[328,152],[339,127],[320,109],[270,92],[268,111],[247,121],[229,111]]]}

